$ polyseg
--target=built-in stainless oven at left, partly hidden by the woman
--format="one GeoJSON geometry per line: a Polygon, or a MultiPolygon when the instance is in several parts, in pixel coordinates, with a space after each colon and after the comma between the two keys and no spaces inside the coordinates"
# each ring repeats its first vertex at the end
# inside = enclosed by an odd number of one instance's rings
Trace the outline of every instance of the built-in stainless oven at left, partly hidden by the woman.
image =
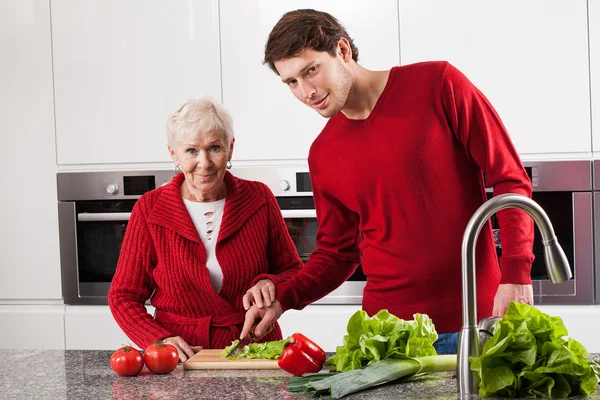
{"type": "Polygon", "coordinates": [[[173,171],[57,174],[65,304],[107,304],[127,222],[137,199],[173,171]]]}

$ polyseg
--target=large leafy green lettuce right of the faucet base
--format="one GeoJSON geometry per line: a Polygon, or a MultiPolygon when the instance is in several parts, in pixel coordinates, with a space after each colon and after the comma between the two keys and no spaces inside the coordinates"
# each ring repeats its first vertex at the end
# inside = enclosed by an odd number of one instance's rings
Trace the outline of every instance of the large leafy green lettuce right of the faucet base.
{"type": "Polygon", "coordinates": [[[511,302],[493,331],[481,356],[469,359],[481,397],[567,397],[596,390],[600,367],[586,359],[581,343],[563,338],[568,332],[560,317],[511,302]]]}

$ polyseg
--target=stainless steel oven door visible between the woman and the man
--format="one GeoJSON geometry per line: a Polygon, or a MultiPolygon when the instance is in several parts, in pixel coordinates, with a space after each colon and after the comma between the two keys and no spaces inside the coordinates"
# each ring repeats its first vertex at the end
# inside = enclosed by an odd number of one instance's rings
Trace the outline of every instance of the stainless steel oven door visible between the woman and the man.
{"type": "MultiPolygon", "coordinates": [[[[314,209],[281,210],[290,236],[296,245],[303,262],[316,249],[317,214],[314,209]]],[[[357,271],[339,288],[313,304],[362,304],[366,278],[360,266],[357,271]]]]}

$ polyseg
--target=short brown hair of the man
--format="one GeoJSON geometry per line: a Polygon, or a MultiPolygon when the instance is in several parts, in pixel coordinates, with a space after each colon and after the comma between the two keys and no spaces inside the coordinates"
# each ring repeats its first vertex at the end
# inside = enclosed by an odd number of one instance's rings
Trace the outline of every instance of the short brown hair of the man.
{"type": "Polygon", "coordinates": [[[275,61],[292,58],[305,49],[326,51],[335,57],[335,49],[341,38],[346,38],[352,50],[352,59],[358,61],[358,49],[346,32],[346,28],[330,14],[311,9],[290,11],[275,24],[265,45],[263,64],[277,75],[275,61]]]}

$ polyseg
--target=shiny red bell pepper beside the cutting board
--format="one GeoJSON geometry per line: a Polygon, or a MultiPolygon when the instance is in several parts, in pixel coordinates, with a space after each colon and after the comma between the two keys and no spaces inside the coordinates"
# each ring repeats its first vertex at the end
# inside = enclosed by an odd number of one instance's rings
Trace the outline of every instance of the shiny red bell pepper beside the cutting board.
{"type": "Polygon", "coordinates": [[[322,348],[301,333],[294,333],[286,339],[279,367],[294,376],[319,372],[327,356],[322,348]]]}

